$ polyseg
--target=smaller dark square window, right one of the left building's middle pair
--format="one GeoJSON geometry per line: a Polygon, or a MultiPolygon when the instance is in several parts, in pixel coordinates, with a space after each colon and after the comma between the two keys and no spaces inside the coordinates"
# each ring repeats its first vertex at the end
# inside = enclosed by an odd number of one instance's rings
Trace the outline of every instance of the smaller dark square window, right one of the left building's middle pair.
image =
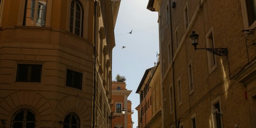
{"type": "Polygon", "coordinates": [[[66,86],[82,89],[82,73],[67,69],[66,86]]]}

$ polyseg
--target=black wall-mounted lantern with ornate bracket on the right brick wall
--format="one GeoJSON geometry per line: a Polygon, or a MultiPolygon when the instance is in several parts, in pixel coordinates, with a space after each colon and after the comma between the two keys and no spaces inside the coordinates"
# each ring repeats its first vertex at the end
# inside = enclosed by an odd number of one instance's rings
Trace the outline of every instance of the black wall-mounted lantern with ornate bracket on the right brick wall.
{"type": "Polygon", "coordinates": [[[195,47],[196,49],[206,49],[209,52],[212,52],[215,55],[219,55],[219,56],[224,56],[227,55],[227,48],[196,48],[196,46],[198,45],[198,34],[195,34],[195,31],[192,32],[191,35],[189,35],[189,38],[192,41],[192,45],[195,47]]]}

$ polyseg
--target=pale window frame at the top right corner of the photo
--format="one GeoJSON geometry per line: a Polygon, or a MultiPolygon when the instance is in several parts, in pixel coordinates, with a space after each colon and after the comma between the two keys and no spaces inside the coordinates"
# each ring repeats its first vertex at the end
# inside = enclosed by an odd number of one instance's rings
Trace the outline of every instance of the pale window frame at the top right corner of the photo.
{"type": "Polygon", "coordinates": [[[252,25],[249,26],[248,21],[248,15],[247,15],[247,6],[246,6],[246,0],[240,0],[241,1],[241,10],[243,15],[243,21],[244,21],[244,29],[253,29],[256,27],[256,20],[252,23],[252,25]]]}

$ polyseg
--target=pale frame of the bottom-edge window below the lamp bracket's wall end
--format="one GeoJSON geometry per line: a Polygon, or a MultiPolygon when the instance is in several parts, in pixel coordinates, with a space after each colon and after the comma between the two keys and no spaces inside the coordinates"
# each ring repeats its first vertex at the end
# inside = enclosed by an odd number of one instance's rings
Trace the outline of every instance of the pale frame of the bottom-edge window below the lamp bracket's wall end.
{"type": "MultiPolygon", "coordinates": [[[[212,102],[211,102],[211,105],[212,105],[212,125],[213,125],[213,128],[217,128],[217,126],[216,126],[216,114],[214,114],[213,113],[213,111],[215,110],[215,105],[217,104],[217,103],[219,103],[219,105],[220,105],[220,111],[219,111],[219,113],[220,114],[222,114],[222,111],[221,111],[221,97],[220,96],[218,96],[218,97],[216,97],[215,99],[213,99],[212,100],[212,102]]],[[[222,115],[221,115],[221,128],[223,128],[223,125],[222,125],[222,122],[223,122],[223,120],[222,120],[222,115]]]]}

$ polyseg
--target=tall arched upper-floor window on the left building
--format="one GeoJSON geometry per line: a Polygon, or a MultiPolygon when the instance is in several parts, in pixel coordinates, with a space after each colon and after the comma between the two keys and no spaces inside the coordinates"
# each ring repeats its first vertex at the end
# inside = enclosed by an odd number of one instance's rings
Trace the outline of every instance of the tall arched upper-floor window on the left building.
{"type": "Polygon", "coordinates": [[[77,0],[72,0],[70,7],[70,32],[82,37],[83,9],[77,0]]]}

